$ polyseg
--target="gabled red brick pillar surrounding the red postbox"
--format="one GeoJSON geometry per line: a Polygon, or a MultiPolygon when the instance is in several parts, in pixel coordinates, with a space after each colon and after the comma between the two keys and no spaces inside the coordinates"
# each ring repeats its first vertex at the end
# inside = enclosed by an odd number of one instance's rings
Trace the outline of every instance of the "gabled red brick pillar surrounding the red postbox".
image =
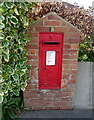
{"type": "Polygon", "coordinates": [[[24,91],[25,108],[33,110],[73,109],[80,31],[56,13],[51,12],[31,24],[28,32],[31,40],[26,45],[26,49],[28,63],[32,68],[28,73],[30,80],[24,91]],[[61,89],[42,90],[38,88],[39,32],[64,33],[61,89]]]}

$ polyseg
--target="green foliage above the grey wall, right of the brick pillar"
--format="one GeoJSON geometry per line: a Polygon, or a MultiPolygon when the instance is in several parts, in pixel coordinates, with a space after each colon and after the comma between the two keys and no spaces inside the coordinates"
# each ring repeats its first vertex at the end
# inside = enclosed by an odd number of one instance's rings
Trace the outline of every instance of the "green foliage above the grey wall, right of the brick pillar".
{"type": "Polygon", "coordinates": [[[78,60],[94,62],[94,34],[80,44],[78,60]]]}

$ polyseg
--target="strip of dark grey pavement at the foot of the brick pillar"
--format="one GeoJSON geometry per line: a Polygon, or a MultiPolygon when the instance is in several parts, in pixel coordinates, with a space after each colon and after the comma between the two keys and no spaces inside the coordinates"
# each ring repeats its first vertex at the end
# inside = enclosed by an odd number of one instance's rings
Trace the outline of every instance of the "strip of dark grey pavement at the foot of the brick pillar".
{"type": "MultiPolygon", "coordinates": [[[[75,118],[81,118],[80,120],[87,119],[87,120],[93,120],[93,111],[91,110],[40,110],[40,111],[24,111],[21,116],[17,120],[32,120],[32,119],[39,119],[43,118],[62,118],[66,120],[71,120],[75,118]],[[31,118],[31,119],[30,119],[31,118]],[[70,119],[69,119],[70,118],[70,119]]],[[[34,119],[34,120],[35,120],[34,119]]],[[[74,120],[74,119],[73,119],[74,120]]]]}

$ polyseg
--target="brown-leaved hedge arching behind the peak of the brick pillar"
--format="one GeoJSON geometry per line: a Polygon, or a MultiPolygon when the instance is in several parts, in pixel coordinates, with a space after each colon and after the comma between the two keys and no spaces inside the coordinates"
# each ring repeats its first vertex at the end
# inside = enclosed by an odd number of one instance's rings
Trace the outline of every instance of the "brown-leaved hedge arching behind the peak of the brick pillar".
{"type": "Polygon", "coordinates": [[[82,38],[86,38],[93,33],[94,20],[91,15],[93,8],[87,10],[79,5],[71,5],[66,2],[41,2],[36,9],[28,12],[30,19],[40,19],[49,12],[56,12],[63,19],[69,21],[75,27],[82,31],[82,38]]]}

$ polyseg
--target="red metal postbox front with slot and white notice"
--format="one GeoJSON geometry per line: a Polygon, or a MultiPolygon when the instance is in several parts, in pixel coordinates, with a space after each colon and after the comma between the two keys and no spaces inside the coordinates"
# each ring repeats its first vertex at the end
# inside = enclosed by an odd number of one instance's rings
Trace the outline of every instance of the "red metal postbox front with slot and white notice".
{"type": "Polygon", "coordinates": [[[61,87],[63,33],[39,33],[39,88],[61,87]]]}

